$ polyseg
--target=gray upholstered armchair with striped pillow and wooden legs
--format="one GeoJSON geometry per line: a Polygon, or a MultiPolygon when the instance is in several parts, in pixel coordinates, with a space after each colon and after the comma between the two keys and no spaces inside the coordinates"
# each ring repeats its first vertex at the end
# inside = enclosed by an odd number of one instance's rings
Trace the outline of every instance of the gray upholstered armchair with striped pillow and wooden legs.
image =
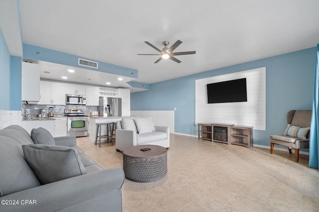
{"type": "Polygon", "coordinates": [[[296,162],[299,161],[299,149],[309,148],[309,129],[312,110],[291,110],[287,113],[287,124],[291,128],[286,129],[284,135],[270,136],[270,153],[274,153],[274,144],[288,146],[289,153],[291,148],[295,148],[296,162]],[[300,129],[299,129],[299,128],[300,129]],[[304,136],[301,134],[304,133],[304,136]],[[302,138],[304,137],[304,138],[302,138]]]}

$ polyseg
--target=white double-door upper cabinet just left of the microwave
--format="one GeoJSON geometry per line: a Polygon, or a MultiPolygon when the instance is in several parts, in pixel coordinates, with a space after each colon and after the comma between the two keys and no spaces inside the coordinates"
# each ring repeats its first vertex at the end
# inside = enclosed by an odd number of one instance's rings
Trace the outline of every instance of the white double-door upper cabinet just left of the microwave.
{"type": "Polygon", "coordinates": [[[65,105],[65,83],[40,81],[41,105],[65,105]]]}

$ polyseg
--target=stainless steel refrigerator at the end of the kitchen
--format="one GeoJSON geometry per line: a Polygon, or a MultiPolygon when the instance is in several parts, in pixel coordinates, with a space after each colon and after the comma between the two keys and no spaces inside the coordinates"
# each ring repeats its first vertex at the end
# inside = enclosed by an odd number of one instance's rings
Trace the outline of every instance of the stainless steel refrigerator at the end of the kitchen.
{"type": "Polygon", "coordinates": [[[100,97],[99,116],[122,116],[122,99],[115,97],[100,97]]]}

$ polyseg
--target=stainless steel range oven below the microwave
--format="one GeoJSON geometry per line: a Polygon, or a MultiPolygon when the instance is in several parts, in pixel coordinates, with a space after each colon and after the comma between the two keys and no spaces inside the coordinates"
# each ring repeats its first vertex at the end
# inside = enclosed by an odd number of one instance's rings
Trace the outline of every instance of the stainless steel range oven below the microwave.
{"type": "Polygon", "coordinates": [[[84,115],[84,110],[65,109],[64,116],[68,117],[67,136],[83,137],[88,136],[89,118],[84,115]]]}

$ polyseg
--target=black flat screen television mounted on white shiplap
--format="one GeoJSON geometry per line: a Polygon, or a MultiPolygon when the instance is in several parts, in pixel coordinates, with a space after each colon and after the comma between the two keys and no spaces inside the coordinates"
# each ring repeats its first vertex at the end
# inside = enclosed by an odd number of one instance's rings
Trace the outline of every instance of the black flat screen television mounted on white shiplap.
{"type": "Polygon", "coordinates": [[[207,84],[207,103],[247,102],[246,78],[207,84]]]}

